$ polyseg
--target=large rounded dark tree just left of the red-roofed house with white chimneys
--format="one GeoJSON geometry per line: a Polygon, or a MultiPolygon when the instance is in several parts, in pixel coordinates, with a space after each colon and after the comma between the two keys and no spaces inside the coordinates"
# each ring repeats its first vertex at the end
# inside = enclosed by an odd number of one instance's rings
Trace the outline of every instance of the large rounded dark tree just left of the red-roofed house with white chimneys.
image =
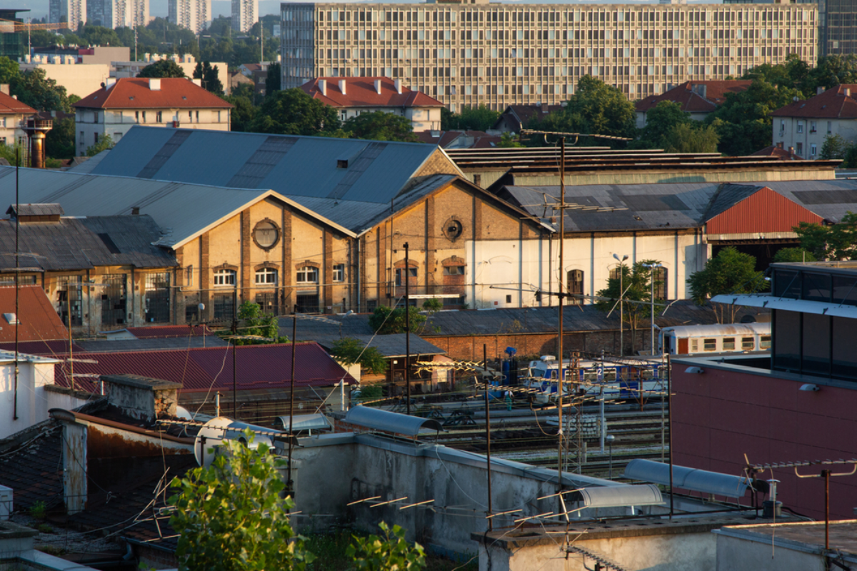
{"type": "Polygon", "coordinates": [[[339,126],[333,107],[295,87],[268,96],[250,122],[249,131],[325,136],[336,133],[339,126]]]}

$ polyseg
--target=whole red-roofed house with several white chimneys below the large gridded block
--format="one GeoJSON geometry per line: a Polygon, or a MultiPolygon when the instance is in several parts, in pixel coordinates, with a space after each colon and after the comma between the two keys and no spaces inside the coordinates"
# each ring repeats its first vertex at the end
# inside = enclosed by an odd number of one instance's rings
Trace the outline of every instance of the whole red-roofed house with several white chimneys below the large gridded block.
{"type": "Polygon", "coordinates": [[[414,133],[440,130],[443,104],[388,77],[319,77],[301,86],[314,99],[339,110],[342,121],[383,111],[407,117],[414,133]]]}

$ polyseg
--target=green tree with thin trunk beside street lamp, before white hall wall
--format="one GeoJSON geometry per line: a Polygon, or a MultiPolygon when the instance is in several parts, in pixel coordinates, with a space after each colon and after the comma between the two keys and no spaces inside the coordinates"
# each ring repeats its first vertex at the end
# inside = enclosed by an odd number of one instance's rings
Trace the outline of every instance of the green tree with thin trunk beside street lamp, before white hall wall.
{"type": "MultiPolygon", "coordinates": [[[[651,314],[651,290],[652,279],[654,272],[646,267],[647,265],[657,265],[653,259],[647,259],[636,264],[623,264],[620,267],[621,277],[610,277],[607,281],[607,288],[599,290],[596,295],[606,300],[596,301],[596,307],[602,312],[610,312],[611,310],[618,311],[616,303],[620,298],[624,300],[623,315],[627,324],[631,326],[631,347],[637,347],[637,329],[641,320],[648,318],[651,314]],[[622,295],[622,289],[625,288],[625,294],[622,295]],[[629,303],[630,302],[630,303],[629,303]],[[639,303],[635,303],[639,302],[639,303]]],[[[655,279],[655,291],[663,282],[655,279]]],[[[624,352],[624,348],[622,348],[624,352]]]]}

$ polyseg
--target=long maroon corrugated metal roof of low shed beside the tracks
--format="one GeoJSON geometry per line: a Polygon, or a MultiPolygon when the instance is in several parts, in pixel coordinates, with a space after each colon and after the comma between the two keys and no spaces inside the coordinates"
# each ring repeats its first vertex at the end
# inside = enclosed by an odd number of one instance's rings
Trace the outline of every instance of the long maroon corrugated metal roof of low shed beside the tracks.
{"type": "MultiPolygon", "coordinates": [[[[79,378],[78,373],[101,375],[129,374],[160,378],[183,385],[182,392],[232,390],[232,348],[192,348],[167,351],[127,353],[75,353],[75,359],[98,363],[75,362],[75,385],[82,390],[95,390],[93,378],[79,378]]],[[[235,348],[238,390],[288,389],[291,381],[291,344],[245,345],[235,348]]],[[[356,381],[334,361],[318,343],[295,346],[295,385],[325,387],[356,381]]],[[[68,366],[57,365],[56,382],[69,386],[68,366]]]]}

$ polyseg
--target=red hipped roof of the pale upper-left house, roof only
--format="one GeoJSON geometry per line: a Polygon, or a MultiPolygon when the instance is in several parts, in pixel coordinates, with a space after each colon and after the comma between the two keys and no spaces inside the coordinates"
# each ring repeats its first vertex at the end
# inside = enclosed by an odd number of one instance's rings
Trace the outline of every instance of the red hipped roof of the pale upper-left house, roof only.
{"type": "Polygon", "coordinates": [[[149,80],[125,77],[110,88],[102,87],[75,103],[86,109],[228,109],[232,104],[182,77],[160,78],[160,89],[149,89],[149,80]]]}

